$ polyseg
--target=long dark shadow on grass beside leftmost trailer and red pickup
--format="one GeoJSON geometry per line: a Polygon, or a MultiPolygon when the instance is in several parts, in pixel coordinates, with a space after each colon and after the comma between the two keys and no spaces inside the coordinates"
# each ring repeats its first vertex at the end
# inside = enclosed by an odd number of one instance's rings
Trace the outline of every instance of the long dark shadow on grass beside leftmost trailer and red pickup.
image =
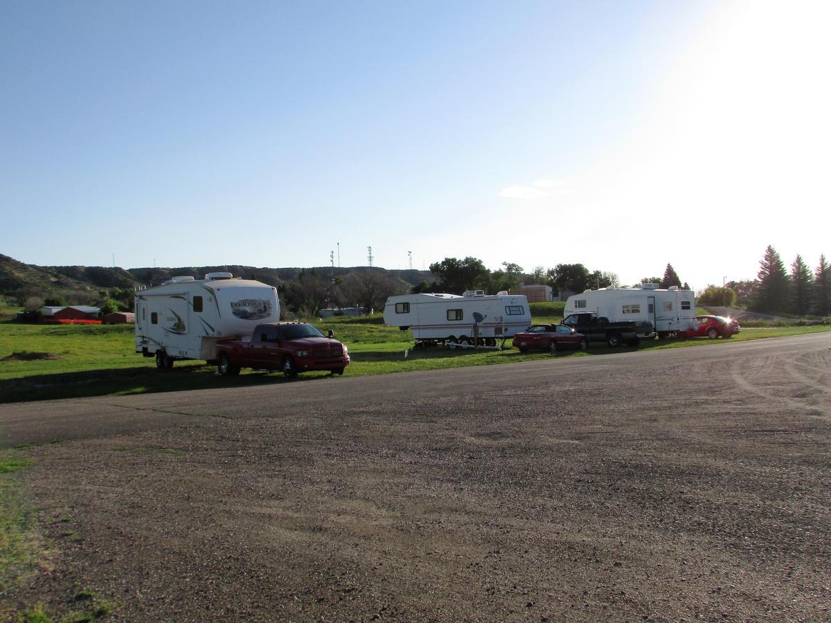
{"type": "Polygon", "coordinates": [[[59,400],[101,395],[152,394],[160,391],[295,383],[327,375],[327,372],[310,372],[296,379],[287,379],[282,373],[276,371],[252,371],[239,376],[220,376],[214,366],[208,365],[183,365],[173,370],[156,370],[150,367],[86,370],[0,380],[0,404],[27,400],[59,400]]]}

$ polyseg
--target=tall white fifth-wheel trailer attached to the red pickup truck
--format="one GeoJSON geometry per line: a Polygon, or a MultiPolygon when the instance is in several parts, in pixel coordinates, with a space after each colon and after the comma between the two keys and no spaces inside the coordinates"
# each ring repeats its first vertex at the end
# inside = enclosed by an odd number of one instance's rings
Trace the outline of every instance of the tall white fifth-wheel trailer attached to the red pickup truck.
{"type": "Polygon", "coordinates": [[[262,282],[209,272],[173,277],[135,293],[135,352],[170,368],[175,359],[216,359],[216,342],[250,336],[280,320],[277,290],[262,282]]]}

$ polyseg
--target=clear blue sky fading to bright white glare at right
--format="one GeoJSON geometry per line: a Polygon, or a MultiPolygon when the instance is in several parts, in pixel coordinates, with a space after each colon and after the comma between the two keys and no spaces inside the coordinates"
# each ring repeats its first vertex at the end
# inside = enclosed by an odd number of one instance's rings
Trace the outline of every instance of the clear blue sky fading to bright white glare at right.
{"type": "Polygon", "coordinates": [[[816,267],[829,31],[823,1],[7,0],[0,253],[816,267]]]}

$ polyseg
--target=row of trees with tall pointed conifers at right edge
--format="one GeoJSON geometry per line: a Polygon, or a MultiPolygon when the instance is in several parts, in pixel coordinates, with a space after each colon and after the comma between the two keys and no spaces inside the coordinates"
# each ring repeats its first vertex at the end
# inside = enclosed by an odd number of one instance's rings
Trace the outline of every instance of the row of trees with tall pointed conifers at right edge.
{"type": "Polygon", "coordinates": [[[831,272],[824,253],[819,255],[813,271],[799,254],[788,270],[776,249],[769,245],[759,264],[755,279],[730,281],[721,287],[708,285],[698,302],[770,314],[831,314],[831,272]]]}

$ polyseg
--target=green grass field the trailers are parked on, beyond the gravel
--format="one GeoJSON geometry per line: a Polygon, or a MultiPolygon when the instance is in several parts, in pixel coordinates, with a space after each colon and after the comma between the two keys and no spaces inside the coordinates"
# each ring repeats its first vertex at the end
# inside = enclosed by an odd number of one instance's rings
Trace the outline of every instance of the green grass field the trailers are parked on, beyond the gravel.
{"type": "MultiPolygon", "coordinates": [[[[563,303],[532,303],[534,322],[558,322],[563,303]]],[[[0,403],[51,400],[91,395],[126,395],[146,392],[194,390],[209,387],[298,382],[327,377],[310,372],[288,381],[278,373],[243,370],[238,377],[221,377],[214,366],[199,361],[178,361],[174,370],[156,370],[153,359],[134,351],[131,325],[27,325],[0,316],[0,403]]],[[[548,353],[520,353],[505,344],[503,351],[431,351],[408,349],[410,331],[384,326],[374,316],[311,319],[322,331],[332,329],[349,347],[352,363],[346,375],[377,375],[410,370],[437,370],[468,365],[493,365],[548,359],[548,353]]],[[[786,326],[742,329],[731,341],[756,340],[800,333],[829,331],[829,326],[786,326]]],[[[723,340],[664,340],[643,342],[640,350],[713,346],[723,340]]],[[[614,351],[627,351],[622,348],[614,351]]],[[[612,349],[594,344],[588,352],[564,352],[556,357],[598,356],[612,349]]]]}

